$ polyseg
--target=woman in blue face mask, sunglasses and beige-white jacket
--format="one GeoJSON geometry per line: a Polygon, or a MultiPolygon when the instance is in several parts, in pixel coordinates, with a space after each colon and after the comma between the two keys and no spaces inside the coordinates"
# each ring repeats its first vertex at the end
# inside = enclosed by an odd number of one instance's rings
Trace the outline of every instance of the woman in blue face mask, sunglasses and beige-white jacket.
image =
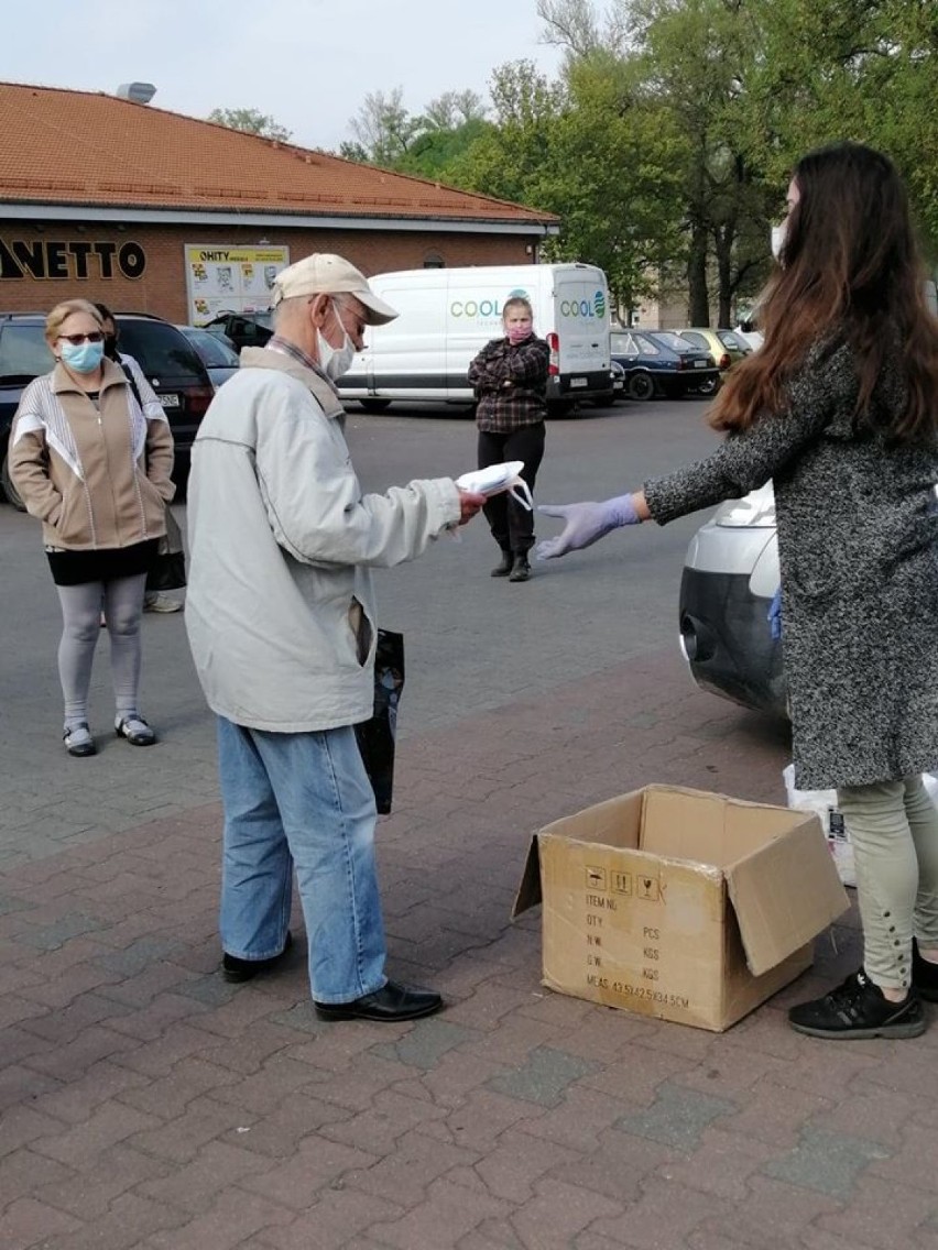
{"type": "Polygon", "coordinates": [[[138,402],[120,365],[105,358],[104,326],[86,300],[46,319],[55,368],[23,394],[10,431],[10,475],[43,521],[63,611],[59,676],[65,749],[94,755],[88,694],[104,609],[114,682],[114,729],[134,746],[156,735],[140,715],[140,616],[146,572],[165,532],[175,486],[173,435],[153,395],[138,402]]]}

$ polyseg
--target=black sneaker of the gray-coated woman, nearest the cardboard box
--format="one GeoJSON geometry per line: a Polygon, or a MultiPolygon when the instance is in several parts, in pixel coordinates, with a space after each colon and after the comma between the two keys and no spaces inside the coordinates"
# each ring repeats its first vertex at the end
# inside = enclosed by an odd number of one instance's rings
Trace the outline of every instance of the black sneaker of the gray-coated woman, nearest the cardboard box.
{"type": "Polygon", "coordinates": [[[810,1038],[918,1038],[925,1031],[922,1004],[914,990],[904,1001],[889,1002],[860,969],[823,999],[802,1002],[788,1012],[788,1022],[810,1038]]]}

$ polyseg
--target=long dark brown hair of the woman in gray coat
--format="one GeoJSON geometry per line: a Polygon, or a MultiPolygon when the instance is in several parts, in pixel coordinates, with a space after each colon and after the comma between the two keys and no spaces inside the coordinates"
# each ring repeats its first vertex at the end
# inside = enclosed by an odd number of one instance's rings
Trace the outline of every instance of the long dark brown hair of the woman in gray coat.
{"type": "Polygon", "coordinates": [[[938,319],[925,304],[908,199],[888,156],[838,142],[808,152],[793,180],[798,202],[785,224],[779,269],[759,296],[764,345],[739,361],[710,424],[743,430],[785,404],[785,386],[808,351],[848,342],[857,362],[855,414],[894,441],[938,429],[938,319]],[[875,410],[888,360],[904,386],[902,410],[875,410]]]}

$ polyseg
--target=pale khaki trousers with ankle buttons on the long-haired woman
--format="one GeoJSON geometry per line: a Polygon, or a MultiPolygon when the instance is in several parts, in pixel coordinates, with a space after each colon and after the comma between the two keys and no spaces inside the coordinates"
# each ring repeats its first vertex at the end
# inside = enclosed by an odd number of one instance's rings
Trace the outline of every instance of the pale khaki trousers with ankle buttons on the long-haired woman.
{"type": "Polygon", "coordinates": [[[837,791],[857,866],[863,962],[887,989],[912,982],[912,938],[938,946],[938,810],[922,778],[837,791]]]}

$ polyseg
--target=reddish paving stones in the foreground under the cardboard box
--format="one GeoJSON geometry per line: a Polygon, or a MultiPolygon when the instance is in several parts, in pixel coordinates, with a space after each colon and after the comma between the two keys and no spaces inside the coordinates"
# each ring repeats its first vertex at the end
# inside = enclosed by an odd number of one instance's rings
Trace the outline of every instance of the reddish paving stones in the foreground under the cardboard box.
{"type": "Polygon", "coordinates": [[[165,758],[169,814],[104,785],[104,828],[0,876],[4,1250],[938,1250],[934,1008],[904,1042],[784,1020],[853,912],[723,1035],[542,989],[509,920],[544,822],[648,781],[780,802],[784,761],[673,648],[406,738],[390,971],[448,1001],[409,1025],[315,1019],[298,910],[285,966],[225,984],[218,804],[174,806],[165,758]]]}

